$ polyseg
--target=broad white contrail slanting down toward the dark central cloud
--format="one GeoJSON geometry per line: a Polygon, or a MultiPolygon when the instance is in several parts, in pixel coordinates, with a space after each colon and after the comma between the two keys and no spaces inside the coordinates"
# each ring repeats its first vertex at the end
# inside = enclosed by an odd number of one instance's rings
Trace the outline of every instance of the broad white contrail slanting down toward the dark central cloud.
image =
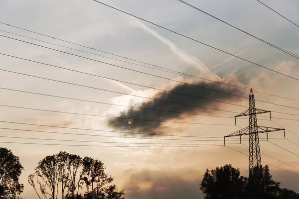
{"type": "Polygon", "coordinates": [[[165,37],[159,35],[157,32],[154,30],[150,29],[148,26],[146,26],[144,23],[141,21],[133,18],[134,21],[143,28],[144,30],[148,31],[150,34],[158,38],[160,41],[162,41],[164,44],[169,46],[169,49],[176,54],[183,62],[190,64],[192,66],[195,66],[197,69],[199,69],[203,74],[207,74],[211,78],[216,78],[220,79],[219,76],[217,76],[215,73],[212,73],[205,65],[202,63],[199,59],[196,57],[187,54],[185,51],[179,49],[175,44],[173,44],[171,41],[166,39],[165,37]]]}

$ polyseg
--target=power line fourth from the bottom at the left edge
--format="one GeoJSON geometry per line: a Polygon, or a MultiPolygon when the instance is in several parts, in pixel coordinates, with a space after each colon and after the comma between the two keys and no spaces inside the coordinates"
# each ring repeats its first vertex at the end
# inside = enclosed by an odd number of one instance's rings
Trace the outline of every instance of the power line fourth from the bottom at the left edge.
{"type": "Polygon", "coordinates": [[[112,133],[124,133],[124,134],[136,134],[136,135],[149,135],[149,136],[154,136],[155,135],[155,136],[170,136],[170,137],[202,138],[201,136],[190,136],[190,135],[167,135],[167,134],[151,134],[151,133],[138,133],[138,132],[123,132],[123,131],[111,131],[111,130],[100,130],[100,129],[90,129],[90,128],[75,128],[75,127],[66,127],[66,126],[42,125],[42,124],[32,124],[32,123],[23,123],[23,122],[3,121],[3,120],[0,120],[0,122],[10,123],[10,124],[30,125],[30,126],[43,126],[43,127],[51,127],[51,128],[63,128],[63,129],[99,131],[99,132],[112,132],[112,133]]]}

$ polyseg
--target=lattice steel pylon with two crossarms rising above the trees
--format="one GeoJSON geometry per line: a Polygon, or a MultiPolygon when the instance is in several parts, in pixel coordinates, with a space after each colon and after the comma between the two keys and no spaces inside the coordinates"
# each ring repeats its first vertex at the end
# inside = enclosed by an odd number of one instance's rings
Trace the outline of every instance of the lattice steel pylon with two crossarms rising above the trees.
{"type": "MultiPolygon", "coordinates": [[[[241,116],[249,116],[249,125],[246,128],[238,130],[232,134],[224,136],[224,144],[226,137],[235,137],[240,136],[240,143],[241,143],[241,136],[242,135],[249,135],[249,176],[254,173],[254,168],[262,166],[261,160],[261,151],[260,151],[260,141],[259,141],[259,133],[267,133],[267,140],[268,140],[268,132],[273,131],[280,131],[284,130],[284,128],[272,128],[266,126],[258,126],[257,122],[257,114],[263,113],[270,113],[271,118],[271,111],[269,110],[262,110],[255,107],[255,100],[254,94],[252,89],[250,90],[249,94],[249,108],[244,112],[235,116],[235,124],[236,118],[241,116]]],[[[286,137],[286,131],[284,132],[284,136],[286,137]]]]}

